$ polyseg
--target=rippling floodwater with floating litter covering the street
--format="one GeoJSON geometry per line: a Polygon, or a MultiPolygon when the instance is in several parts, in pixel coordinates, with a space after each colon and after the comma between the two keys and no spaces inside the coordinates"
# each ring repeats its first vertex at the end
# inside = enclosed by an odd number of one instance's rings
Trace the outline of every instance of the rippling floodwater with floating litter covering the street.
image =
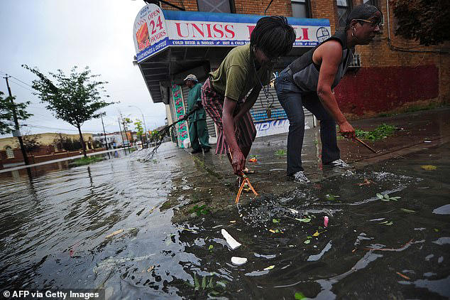
{"type": "Polygon", "coordinates": [[[197,210],[183,224],[160,210],[184,174],[165,159],[175,151],[2,177],[1,288],[104,288],[108,299],[450,297],[450,144],[222,213],[197,210]],[[241,247],[231,250],[222,229],[241,247]]]}

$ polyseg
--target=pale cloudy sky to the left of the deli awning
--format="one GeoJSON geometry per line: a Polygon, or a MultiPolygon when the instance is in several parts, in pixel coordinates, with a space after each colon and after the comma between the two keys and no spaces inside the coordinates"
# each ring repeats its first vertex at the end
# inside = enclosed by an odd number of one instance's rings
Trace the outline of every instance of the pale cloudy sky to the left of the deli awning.
{"type": "MultiPolygon", "coordinates": [[[[120,112],[133,120],[145,119],[148,130],[165,124],[165,106],[153,103],[139,68],[133,65],[133,23],[145,6],[143,0],[1,0],[0,1],[0,91],[8,95],[5,73],[16,102],[31,101],[33,117],[22,121],[22,134],[77,129],[53,117],[38,96],[32,81],[37,77],[21,67],[38,67],[48,75],[57,69],[70,73],[73,66],[88,66],[101,75],[106,102],[106,133],[119,131],[120,112]],[[142,117],[143,116],[143,117],[142,117]]],[[[102,132],[101,120],[92,119],[82,132],[102,132]]],[[[11,136],[6,134],[0,137],[11,136]]]]}

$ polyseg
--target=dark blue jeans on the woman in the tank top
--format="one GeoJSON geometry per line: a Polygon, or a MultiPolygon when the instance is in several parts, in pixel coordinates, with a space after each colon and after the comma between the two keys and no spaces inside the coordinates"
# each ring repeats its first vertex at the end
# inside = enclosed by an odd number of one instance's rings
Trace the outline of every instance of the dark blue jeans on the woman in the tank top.
{"type": "Polygon", "coordinates": [[[320,102],[319,97],[305,95],[295,85],[292,75],[285,71],[280,73],[275,90],[278,100],[289,119],[289,134],[287,135],[287,176],[292,176],[302,167],[302,146],[304,136],[303,107],[312,112],[320,120],[320,140],[322,141],[322,164],[340,158],[340,151],[336,140],[336,123],[320,102]]]}

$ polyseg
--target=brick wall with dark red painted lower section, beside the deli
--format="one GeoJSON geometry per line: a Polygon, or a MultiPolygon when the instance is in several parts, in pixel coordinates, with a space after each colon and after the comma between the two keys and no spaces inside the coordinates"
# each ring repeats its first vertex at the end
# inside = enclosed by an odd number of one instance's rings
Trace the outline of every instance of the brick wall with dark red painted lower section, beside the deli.
{"type": "MultiPolygon", "coordinates": [[[[350,0],[354,7],[363,0],[350,0]]],[[[234,0],[236,14],[263,15],[270,0],[234,0]]],[[[336,0],[310,0],[312,18],[328,18],[331,32],[336,30],[336,0]]],[[[171,0],[171,3],[197,11],[195,0],[171,0]]],[[[336,96],[347,114],[374,114],[395,109],[414,102],[450,102],[450,55],[439,53],[404,52],[388,45],[388,10],[385,0],[380,0],[385,26],[370,45],[356,46],[361,55],[362,67],[349,73],[336,87],[336,96]],[[427,76],[432,77],[427,77],[427,76]],[[406,76],[406,77],[402,77],[406,76]],[[434,80],[434,81],[433,81],[434,80]],[[352,104],[353,103],[353,104],[352,104]],[[373,105],[373,104],[378,104],[373,105]],[[363,108],[362,105],[366,106],[363,108]]],[[[162,6],[163,9],[172,9],[162,6]]],[[[289,0],[273,0],[268,15],[292,16],[289,0]]],[[[450,43],[424,47],[415,41],[394,35],[395,18],[390,8],[390,42],[399,48],[432,50],[450,48],[450,43]]]]}

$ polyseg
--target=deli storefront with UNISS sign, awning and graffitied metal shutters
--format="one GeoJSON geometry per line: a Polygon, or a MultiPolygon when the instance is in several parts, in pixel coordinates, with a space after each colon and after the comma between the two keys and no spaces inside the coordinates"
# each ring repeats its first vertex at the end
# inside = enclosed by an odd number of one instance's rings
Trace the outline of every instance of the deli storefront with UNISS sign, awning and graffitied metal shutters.
{"type": "MultiPolygon", "coordinates": [[[[229,50],[250,43],[250,34],[263,16],[162,10],[148,4],[139,11],[133,26],[136,62],[154,103],[166,105],[168,124],[187,113],[189,89],[182,81],[193,73],[204,82],[219,67],[229,50]]],[[[292,60],[329,38],[328,19],[287,18],[297,34],[294,48],[275,65],[275,78],[292,60]]],[[[269,99],[261,90],[251,115],[258,136],[287,132],[289,122],[278,102],[273,85],[269,99]],[[266,109],[270,107],[268,117],[266,109]]],[[[309,114],[309,112],[308,112],[309,114]]],[[[309,114],[310,115],[310,114],[309,114]]],[[[209,136],[214,143],[216,129],[207,117],[209,136]]],[[[308,125],[308,124],[307,124],[308,125]]],[[[311,125],[311,124],[309,124],[311,125]]],[[[175,126],[177,144],[189,139],[187,122],[175,126]]]]}

